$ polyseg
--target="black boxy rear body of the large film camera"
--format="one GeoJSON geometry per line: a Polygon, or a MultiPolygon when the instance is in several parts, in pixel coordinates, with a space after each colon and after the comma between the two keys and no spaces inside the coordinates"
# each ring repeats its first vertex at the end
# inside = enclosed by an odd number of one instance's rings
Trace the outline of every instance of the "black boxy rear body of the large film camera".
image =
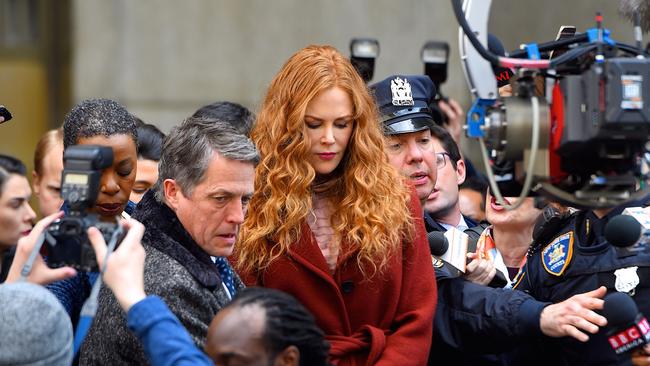
{"type": "Polygon", "coordinates": [[[643,85],[648,80],[650,61],[628,57],[606,59],[559,81],[559,118],[566,122],[555,152],[563,172],[589,176],[635,169],[650,138],[650,90],[643,85]]]}

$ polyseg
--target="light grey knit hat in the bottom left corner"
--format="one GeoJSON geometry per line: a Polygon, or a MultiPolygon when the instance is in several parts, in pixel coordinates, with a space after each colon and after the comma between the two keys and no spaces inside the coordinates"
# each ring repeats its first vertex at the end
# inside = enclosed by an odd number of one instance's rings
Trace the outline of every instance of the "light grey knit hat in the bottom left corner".
{"type": "Polygon", "coordinates": [[[0,285],[0,365],[72,363],[72,324],[52,293],[28,282],[0,285]]]}

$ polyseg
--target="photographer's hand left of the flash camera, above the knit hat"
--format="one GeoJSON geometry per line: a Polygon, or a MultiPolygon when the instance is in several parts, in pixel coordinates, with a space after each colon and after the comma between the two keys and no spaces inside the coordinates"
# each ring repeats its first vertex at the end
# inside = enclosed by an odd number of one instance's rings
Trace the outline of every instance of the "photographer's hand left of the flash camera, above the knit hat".
{"type": "MultiPolygon", "coordinates": [[[[48,226],[50,226],[54,220],[59,219],[62,216],[63,211],[60,211],[50,216],[44,217],[34,226],[29,235],[24,236],[18,240],[18,245],[16,246],[16,254],[14,256],[13,262],[11,263],[11,268],[9,268],[9,274],[7,275],[7,283],[16,282],[20,279],[20,272],[27,262],[29,255],[32,253],[34,246],[36,246],[38,237],[48,226]]],[[[27,276],[27,281],[39,285],[47,285],[52,282],[74,277],[76,274],[77,271],[75,271],[72,267],[48,267],[47,264],[45,264],[43,257],[38,254],[34,259],[34,263],[32,264],[32,271],[27,276]]]]}

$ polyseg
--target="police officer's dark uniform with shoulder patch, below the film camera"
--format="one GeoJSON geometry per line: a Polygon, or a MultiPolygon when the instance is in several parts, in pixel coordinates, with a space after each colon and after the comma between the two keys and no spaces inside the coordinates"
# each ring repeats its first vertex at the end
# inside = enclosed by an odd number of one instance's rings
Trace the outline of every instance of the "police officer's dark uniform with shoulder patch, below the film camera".
{"type": "MultiPolygon", "coordinates": [[[[641,245],[637,251],[622,251],[604,237],[607,223],[625,207],[647,206],[647,203],[646,198],[610,210],[580,211],[554,218],[555,228],[535,235],[528,261],[515,279],[514,287],[540,301],[558,302],[605,286],[608,292],[630,294],[639,310],[650,315],[650,248],[641,245]]],[[[547,339],[541,348],[539,356],[543,355],[553,365],[630,362],[630,353],[615,354],[606,331],[592,336],[587,343],[547,339]]]]}

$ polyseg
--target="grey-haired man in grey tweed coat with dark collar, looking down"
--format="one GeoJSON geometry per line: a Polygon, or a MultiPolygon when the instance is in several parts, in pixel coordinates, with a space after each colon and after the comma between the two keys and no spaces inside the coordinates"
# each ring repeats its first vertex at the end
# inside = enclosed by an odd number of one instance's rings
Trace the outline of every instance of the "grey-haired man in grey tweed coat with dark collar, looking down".
{"type": "MultiPolygon", "coordinates": [[[[258,161],[253,143],[228,123],[190,117],[165,138],[158,182],[132,215],[146,229],[145,291],[165,301],[201,349],[212,318],[244,287],[224,257],[244,221],[258,161]]],[[[80,364],[146,364],[108,288],[80,364]]]]}

